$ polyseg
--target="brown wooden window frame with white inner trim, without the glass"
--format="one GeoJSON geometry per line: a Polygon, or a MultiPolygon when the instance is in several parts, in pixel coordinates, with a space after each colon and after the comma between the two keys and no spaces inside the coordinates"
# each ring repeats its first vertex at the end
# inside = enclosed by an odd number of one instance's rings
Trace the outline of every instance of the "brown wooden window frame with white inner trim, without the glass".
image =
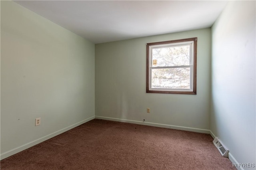
{"type": "MultiPolygon", "coordinates": [[[[196,95],[196,67],[197,67],[197,37],[196,38],[186,38],[186,39],[181,39],[181,40],[171,40],[171,41],[164,41],[164,42],[154,42],[154,43],[147,43],[146,44],[146,93],[171,93],[171,94],[191,94],[191,95],[196,95]],[[163,45],[163,44],[171,44],[171,43],[180,43],[180,42],[191,42],[193,41],[193,63],[192,63],[192,68],[193,68],[193,77],[192,78],[192,89],[191,91],[178,91],[175,89],[175,91],[172,91],[172,89],[168,90],[150,90],[150,46],[152,45],[163,45]]],[[[173,89],[174,90],[174,89],[173,89]]]]}

